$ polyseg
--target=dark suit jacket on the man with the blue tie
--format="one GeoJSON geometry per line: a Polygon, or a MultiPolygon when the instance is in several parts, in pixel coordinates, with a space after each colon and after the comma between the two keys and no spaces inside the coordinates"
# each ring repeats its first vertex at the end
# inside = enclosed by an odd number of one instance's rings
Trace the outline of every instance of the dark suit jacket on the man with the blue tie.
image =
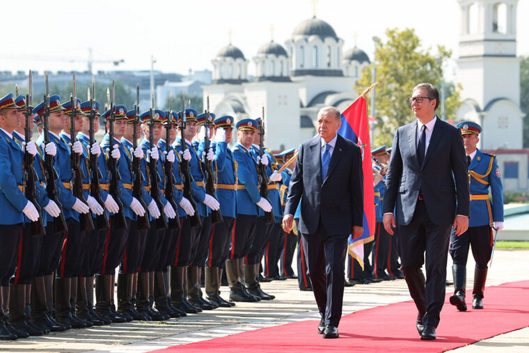
{"type": "Polygon", "coordinates": [[[301,143],[290,179],[285,214],[294,214],[301,199],[301,233],[314,234],[319,219],[327,235],[350,234],[363,225],[363,171],[361,151],[338,135],[322,181],[321,138],[301,143]]]}

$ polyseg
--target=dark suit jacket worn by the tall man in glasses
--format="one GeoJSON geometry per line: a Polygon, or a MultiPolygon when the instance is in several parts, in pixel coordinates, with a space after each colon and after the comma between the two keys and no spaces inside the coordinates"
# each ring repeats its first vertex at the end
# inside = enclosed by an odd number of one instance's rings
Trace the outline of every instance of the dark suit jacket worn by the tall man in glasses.
{"type": "Polygon", "coordinates": [[[416,141],[416,120],[397,129],[386,175],[384,213],[395,209],[397,223],[409,224],[422,189],[434,224],[452,223],[456,214],[468,216],[468,171],[459,130],[437,118],[422,166],[416,141]]]}

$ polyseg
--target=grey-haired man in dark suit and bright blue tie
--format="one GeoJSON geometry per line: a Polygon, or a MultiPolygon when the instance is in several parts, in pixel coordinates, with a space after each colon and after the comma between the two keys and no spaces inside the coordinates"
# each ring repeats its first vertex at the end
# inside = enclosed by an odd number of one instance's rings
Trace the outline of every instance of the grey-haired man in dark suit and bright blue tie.
{"type": "Polygon", "coordinates": [[[338,135],[341,113],[335,107],[318,113],[318,134],[301,143],[288,191],[283,228],[292,229],[301,196],[298,230],[322,315],[318,325],[324,338],[338,338],[342,316],[347,237],[363,232],[363,172],[361,151],[338,135]]]}

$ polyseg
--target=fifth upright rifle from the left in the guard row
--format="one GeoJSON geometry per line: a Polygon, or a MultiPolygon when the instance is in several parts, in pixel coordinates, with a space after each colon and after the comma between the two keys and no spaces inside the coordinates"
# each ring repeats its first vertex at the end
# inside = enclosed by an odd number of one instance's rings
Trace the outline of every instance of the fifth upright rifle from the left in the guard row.
{"type": "Polygon", "coordinates": [[[114,146],[114,121],[116,120],[116,84],[112,80],[112,101],[110,100],[109,88],[106,88],[106,104],[110,107],[109,116],[109,172],[110,172],[110,185],[109,194],[118,206],[120,210],[114,214],[116,219],[116,229],[127,229],[127,220],[125,219],[125,213],[123,212],[123,203],[120,200],[119,191],[119,180],[121,179],[120,172],[118,171],[118,160],[112,157],[112,151],[114,146]]]}

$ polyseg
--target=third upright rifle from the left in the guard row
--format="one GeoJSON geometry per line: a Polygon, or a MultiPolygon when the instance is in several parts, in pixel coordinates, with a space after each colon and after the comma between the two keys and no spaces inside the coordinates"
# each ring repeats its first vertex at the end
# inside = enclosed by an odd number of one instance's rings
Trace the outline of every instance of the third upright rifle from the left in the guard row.
{"type": "MultiPolygon", "coordinates": [[[[77,85],[75,82],[74,74],[74,93],[70,94],[70,143],[73,146],[74,142],[77,141],[75,132],[75,118],[77,117],[77,85]]],[[[86,204],[83,195],[83,172],[81,166],[79,166],[79,155],[74,152],[70,153],[70,168],[72,173],[72,194],[77,197],[81,202],[86,204]]],[[[79,213],[79,223],[81,224],[81,230],[93,230],[94,223],[92,221],[92,215],[90,212],[79,213]]]]}

